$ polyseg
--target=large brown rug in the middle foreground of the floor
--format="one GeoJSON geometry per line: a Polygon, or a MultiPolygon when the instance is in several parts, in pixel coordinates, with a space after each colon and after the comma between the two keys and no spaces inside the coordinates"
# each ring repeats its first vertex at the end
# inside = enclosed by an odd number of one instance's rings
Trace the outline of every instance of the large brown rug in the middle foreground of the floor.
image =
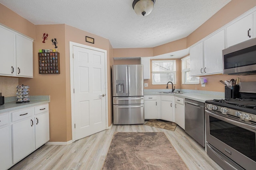
{"type": "Polygon", "coordinates": [[[102,170],[188,170],[163,132],[116,132],[102,170]]]}

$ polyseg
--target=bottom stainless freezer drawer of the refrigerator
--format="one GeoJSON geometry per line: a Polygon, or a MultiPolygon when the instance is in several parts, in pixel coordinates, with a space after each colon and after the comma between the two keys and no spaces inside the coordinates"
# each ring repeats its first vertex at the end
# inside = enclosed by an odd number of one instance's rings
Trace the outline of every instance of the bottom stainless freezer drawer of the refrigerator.
{"type": "Polygon", "coordinates": [[[144,104],[113,105],[114,125],[144,124],[144,104]]]}

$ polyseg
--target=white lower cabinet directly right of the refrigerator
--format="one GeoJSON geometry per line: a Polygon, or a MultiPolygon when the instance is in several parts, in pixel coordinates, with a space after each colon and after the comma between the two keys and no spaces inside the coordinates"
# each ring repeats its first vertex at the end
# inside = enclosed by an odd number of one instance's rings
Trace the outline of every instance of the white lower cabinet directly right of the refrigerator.
{"type": "Polygon", "coordinates": [[[144,96],[144,119],[158,119],[158,95],[144,96]]]}

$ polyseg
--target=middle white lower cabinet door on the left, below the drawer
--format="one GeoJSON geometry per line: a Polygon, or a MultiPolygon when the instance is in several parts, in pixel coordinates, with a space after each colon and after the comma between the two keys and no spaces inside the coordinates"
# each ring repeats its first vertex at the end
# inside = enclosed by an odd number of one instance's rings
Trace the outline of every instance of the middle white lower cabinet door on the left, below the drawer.
{"type": "Polygon", "coordinates": [[[35,150],[33,117],[12,125],[12,141],[14,164],[35,150]]]}

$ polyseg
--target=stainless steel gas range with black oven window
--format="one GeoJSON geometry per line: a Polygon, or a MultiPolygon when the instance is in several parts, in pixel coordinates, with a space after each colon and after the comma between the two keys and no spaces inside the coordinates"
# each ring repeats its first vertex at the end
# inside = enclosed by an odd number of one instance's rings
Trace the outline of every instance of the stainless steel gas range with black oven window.
{"type": "Polygon", "coordinates": [[[205,102],[206,151],[225,170],[256,168],[254,88],[256,82],[242,82],[241,98],[205,102]]]}

